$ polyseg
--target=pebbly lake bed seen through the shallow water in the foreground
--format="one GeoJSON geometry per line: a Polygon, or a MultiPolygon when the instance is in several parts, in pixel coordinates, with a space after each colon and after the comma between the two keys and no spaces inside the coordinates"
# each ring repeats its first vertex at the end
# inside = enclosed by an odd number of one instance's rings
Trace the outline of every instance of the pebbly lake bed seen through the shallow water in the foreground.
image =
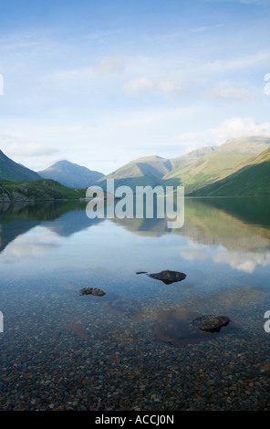
{"type": "Polygon", "coordinates": [[[236,330],[177,346],[156,338],[159,311],[147,299],[136,309],[119,298],[12,293],[0,335],[1,410],[270,410],[265,304],[231,309],[236,330]]]}

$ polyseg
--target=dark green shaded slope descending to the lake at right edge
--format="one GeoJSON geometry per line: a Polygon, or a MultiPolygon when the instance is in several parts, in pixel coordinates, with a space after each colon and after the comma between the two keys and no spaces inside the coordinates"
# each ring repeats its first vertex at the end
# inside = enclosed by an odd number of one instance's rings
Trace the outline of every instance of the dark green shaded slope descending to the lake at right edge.
{"type": "Polygon", "coordinates": [[[192,196],[270,195],[270,148],[239,163],[223,179],[193,192],[192,196]]]}

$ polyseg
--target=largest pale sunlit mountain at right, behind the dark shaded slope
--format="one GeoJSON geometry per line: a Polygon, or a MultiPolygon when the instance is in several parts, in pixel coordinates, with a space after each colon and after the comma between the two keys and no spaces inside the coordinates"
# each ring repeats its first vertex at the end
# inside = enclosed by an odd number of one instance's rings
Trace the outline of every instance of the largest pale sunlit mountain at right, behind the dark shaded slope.
{"type": "MultiPolygon", "coordinates": [[[[163,177],[163,184],[174,186],[183,185],[185,194],[196,191],[207,184],[213,183],[228,173],[248,158],[265,151],[270,147],[270,139],[261,137],[239,138],[225,141],[221,146],[204,151],[204,155],[198,153],[193,162],[179,163],[179,167],[163,177]]],[[[184,155],[178,158],[178,162],[191,156],[184,155]]],[[[175,161],[174,161],[175,162],[175,161]]],[[[171,160],[173,164],[173,160],[171,160]]]]}

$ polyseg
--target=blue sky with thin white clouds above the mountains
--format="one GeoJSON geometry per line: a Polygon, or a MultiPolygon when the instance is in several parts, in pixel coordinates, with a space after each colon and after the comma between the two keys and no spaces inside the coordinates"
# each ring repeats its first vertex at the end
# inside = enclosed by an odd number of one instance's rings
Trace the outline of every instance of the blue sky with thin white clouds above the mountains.
{"type": "Polygon", "coordinates": [[[107,174],[270,137],[269,16],[270,0],[5,0],[0,149],[107,174]]]}

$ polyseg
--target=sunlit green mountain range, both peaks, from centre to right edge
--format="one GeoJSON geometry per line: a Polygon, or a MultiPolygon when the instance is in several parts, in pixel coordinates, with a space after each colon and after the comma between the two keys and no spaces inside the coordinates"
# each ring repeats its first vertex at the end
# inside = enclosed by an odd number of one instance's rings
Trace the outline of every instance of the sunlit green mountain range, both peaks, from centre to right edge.
{"type": "Polygon", "coordinates": [[[97,184],[104,187],[107,179],[114,179],[115,186],[124,184],[133,189],[138,185],[182,185],[185,194],[189,194],[223,178],[240,162],[269,147],[270,138],[243,137],[225,141],[221,146],[206,146],[177,158],[139,158],[102,177],[97,184]]]}

